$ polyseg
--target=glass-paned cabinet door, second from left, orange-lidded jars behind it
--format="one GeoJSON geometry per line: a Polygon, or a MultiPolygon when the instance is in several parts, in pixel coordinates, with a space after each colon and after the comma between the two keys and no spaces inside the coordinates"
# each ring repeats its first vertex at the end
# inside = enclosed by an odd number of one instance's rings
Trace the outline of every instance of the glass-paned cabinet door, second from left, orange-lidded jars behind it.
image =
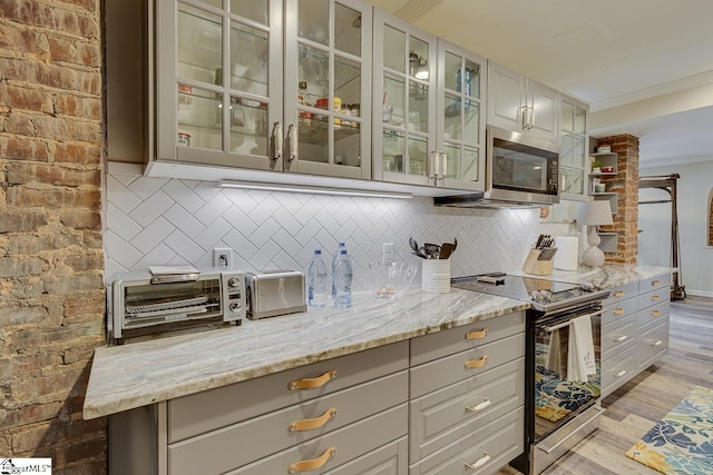
{"type": "Polygon", "coordinates": [[[285,2],[287,172],[371,178],[372,7],[285,2]]]}

